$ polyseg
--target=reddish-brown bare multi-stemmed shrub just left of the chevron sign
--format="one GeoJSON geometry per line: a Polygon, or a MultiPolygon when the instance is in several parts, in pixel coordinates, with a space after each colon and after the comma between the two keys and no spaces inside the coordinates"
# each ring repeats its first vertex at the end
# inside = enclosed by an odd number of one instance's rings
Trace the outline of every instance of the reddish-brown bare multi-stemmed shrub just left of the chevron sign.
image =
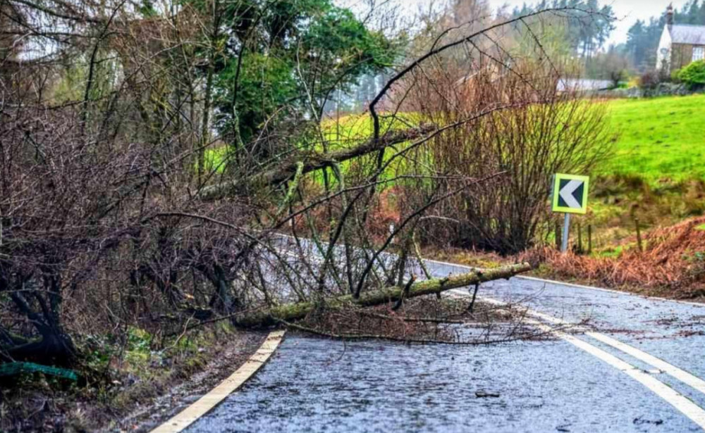
{"type": "Polygon", "coordinates": [[[559,92],[560,73],[548,65],[517,61],[507,70],[491,59],[487,64],[460,80],[457,71],[427,72],[413,89],[422,117],[441,124],[503,107],[437,137],[422,157],[444,175],[503,173],[439,206],[437,218],[424,223],[424,240],[517,253],[546,234],[551,176],[591,172],[613,137],[602,106],[559,92]]]}

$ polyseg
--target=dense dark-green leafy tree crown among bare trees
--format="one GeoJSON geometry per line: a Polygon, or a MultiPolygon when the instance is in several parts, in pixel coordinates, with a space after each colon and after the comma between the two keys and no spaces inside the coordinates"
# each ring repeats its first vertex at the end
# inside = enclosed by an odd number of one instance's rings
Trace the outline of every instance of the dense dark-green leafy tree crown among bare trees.
{"type": "MultiPolygon", "coordinates": [[[[211,7],[192,4],[204,12],[211,7]]],[[[332,0],[238,1],[224,6],[220,21],[216,127],[233,143],[250,141],[265,123],[313,120],[333,91],[388,68],[399,53],[332,0]]],[[[270,149],[258,151],[255,157],[271,156],[270,149]]]]}

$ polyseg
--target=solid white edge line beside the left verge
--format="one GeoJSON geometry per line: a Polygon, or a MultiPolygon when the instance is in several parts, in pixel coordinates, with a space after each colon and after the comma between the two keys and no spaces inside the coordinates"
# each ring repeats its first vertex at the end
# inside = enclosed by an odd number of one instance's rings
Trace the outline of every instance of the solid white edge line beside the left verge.
{"type": "Polygon", "coordinates": [[[223,380],[217,387],[212,389],[208,394],[202,396],[198,401],[193,403],[188,408],[185,408],[180,413],[176,414],[160,425],[156,429],[152,430],[151,433],[178,433],[183,431],[186,427],[191,425],[193,422],[201,418],[203,415],[208,413],[212,408],[216,407],[221,401],[226,399],[227,396],[238,389],[247,379],[250,379],[252,375],[259,370],[266,360],[269,359],[272,353],[276,350],[281,343],[281,339],[284,337],[284,331],[274,331],[270,332],[269,336],[266,337],[262,346],[257,349],[250,359],[245,361],[245,363],[238,368],[230,377],[223,380]]]}

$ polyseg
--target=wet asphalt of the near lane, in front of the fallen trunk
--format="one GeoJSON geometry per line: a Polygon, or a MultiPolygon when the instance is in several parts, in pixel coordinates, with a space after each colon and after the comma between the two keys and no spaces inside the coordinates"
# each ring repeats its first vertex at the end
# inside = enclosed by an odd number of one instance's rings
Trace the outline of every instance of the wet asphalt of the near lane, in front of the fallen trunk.
{"type": "Polygon", "coordinates": [[[408,346],[290,336],[189,432],[691,429],[668,403],[565,341],[408,346]]]}

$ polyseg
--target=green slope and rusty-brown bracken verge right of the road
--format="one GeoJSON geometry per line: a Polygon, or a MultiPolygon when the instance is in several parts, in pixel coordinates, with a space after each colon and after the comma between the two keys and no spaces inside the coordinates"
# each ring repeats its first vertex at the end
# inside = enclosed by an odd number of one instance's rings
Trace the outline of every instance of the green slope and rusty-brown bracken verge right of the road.
{"type": "MultiPolygon", "coordinates": [[[[554,232],[518,259],[536,263],[534,275],[541,277],[705,298],[705,170],[699,163],[705,161],[705,95],[594,103],[606,106],[608,125],[618,135],[611,154],[589,173],[590,208],[573,218],[574,253],[557,251],[554,232]]],[[[432,246],[427,254],[481,268],[517,260],[432,246]]]]}

